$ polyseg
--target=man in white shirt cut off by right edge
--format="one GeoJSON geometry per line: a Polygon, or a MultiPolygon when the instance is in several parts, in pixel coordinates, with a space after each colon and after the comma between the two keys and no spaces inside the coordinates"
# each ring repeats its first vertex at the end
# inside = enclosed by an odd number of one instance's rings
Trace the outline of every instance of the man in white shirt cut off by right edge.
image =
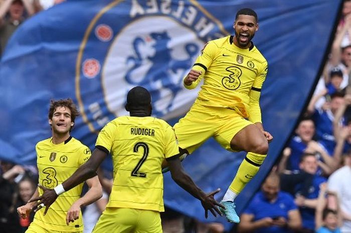
{"type": "MultiPolygon", "coordinates": [[[[328,179],[328,190],[337,193],[340,210],[342,215],[342,233],[351,233],[351,151],[345,156],[345,165],[333,174],[328,179]]],[[[335,208],[337,202],[329,195],[328,204],[335,208]],[[332,206],[334,205],[334,206],[332,206]]]]}

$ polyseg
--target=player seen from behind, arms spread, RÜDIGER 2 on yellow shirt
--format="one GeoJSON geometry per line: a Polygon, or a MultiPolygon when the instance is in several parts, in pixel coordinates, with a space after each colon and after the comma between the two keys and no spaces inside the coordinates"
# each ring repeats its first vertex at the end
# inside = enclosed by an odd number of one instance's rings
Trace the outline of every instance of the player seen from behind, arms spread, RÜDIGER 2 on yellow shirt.
{"type": "Polygon", "coordinates": [[[163,207],[162,162],[167,160],[172,178],[201,200],[205,216],[215,216],[224,207],[214,199],[216,190],[205,194],[187,175],[179,159],[174,131],[163,120],[151,117],[151,97],[142,87],[128,92],[126,110],[130,116],[117,117],[100,131],[90,159],[55,189],[46,189],[40,200],[50,206],[60,194],[96,173],[107,156],[113,160],[113,187],[106,210],[93,233],[162,232],[159,212],[163,207]]]}

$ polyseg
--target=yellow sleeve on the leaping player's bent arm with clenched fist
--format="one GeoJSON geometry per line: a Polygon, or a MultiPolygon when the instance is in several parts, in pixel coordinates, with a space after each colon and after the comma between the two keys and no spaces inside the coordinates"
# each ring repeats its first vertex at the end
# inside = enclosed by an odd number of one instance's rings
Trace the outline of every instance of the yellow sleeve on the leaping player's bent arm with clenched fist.
{"type": "Polygon", "coordinates": [[[217,51],[217,46],[213,42],[208,42],[205,44],[204,48],[201,50],[200,56],[196,59],[194,65],[193,65],[193,70],[201,71],[202,74],[199,76],[198,80],[193,82],[191,85],[186,85],[184,83],[184,80],[187,78],[187,76],[184,77],[183,79],[183,84],[185,88],[187,89],[194,89],[196,88],[201,80],[204,78],[204,75],[207,71],[207,69],[211,66],[215,56],[216,56],[216,51],[217,51]]]}

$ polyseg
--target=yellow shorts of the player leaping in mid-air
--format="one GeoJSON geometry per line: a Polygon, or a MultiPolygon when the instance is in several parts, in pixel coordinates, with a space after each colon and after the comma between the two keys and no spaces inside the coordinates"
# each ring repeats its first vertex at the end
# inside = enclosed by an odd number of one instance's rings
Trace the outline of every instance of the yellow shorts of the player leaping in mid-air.
{"type": "Polygon", "coordinates": [[[253,124],[235,110],[194,104],[187,115],[173,126],[179,147],[189,153],[199,148],[210,137],[227,150],[233,151],[230,142],[244,127],[253,124]]]}

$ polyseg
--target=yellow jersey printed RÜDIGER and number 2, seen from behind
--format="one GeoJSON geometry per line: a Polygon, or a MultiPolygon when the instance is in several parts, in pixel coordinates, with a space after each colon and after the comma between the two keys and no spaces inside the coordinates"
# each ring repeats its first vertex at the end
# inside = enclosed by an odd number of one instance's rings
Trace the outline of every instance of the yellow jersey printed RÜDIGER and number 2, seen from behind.
{"type": "Polygon", "coordinates": [[[113,161],[107,207],[164,211],[161,164],[179,154],[174,131],[165,121],[118,117],[100,131],[95,146],[106,149],[113,161]]]}

